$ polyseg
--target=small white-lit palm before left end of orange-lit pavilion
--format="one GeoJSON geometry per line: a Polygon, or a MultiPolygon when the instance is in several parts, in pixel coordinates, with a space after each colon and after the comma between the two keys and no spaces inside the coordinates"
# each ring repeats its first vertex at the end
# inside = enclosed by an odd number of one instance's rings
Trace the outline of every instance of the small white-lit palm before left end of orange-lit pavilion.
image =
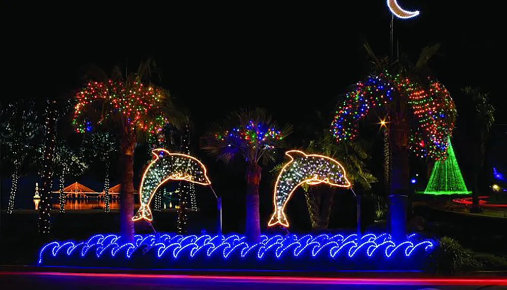
{"type": "Polygon", "coordinates": [[[83,174],[88,168],[88,164],[83,160],[81,152],[76,152],[71,149],[64,139],[59,139],[56,142],[53,155],[54,171],[59,175],[60,181],[60,194],[58,199],[60,201],[60,213],[65,213],[65,175],[73,174],[75,176],[83,174]]]}

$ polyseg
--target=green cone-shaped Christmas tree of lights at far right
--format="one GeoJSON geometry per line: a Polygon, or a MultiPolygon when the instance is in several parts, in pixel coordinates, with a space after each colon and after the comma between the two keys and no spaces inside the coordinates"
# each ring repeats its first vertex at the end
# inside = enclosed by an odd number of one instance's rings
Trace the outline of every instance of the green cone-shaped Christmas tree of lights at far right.
{"type": "Polygon", "coordinates": [[[451,141],[448,142],[447,159],[435,163],[426,190],[418,193],[435,195],[472,193],[466,189],[451,141]]]}

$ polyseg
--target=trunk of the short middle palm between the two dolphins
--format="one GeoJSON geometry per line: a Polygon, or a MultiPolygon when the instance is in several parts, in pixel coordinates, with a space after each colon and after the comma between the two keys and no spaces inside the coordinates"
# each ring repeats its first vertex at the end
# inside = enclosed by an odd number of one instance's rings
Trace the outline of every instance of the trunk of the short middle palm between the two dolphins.
{"type": "Polygon", "coordinates": [[[248,164],[246,169],[246,225],[245,235],[249,242],[261,241],[259,214],[259,184],[262,168],[259,164],[248,164]]]}

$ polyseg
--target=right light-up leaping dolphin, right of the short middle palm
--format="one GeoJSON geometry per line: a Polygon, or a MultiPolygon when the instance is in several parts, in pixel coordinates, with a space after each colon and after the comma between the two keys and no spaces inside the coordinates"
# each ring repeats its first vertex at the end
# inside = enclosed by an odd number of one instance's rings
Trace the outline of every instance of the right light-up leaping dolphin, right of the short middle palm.
{"type": "Polygon", "coordinates": [[[350,187],[345,169],[333,158],[317,154],[307,155],[299,150],[287,151],[285,155],[291,157],[291,161],[283,166],[276,179],[273,197],[275,212],[268,226],[280,224],[288,227],[284,213],[285,205],[296,188],[304,183],[309,185],[327,183],[331,186],[350,187]]]}

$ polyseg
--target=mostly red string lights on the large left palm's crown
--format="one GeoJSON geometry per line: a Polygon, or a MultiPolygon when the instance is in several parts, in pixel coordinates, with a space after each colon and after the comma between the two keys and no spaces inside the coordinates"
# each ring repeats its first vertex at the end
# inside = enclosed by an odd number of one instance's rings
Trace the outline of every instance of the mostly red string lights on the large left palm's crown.
{"type": "MultiPolygon", "coordinates": [[[[90,81],[76,94],[77,104],[74,112],[74,126],[78,133],[92,131],[92,123],[84,110],[96,101],[110,103],[108,114],[119,114],[125,125],[150,135],[158,134],[168,123],[168,117],[161,110],[164,101],[162,89],[144,86],[138,78],[127,85],[121,80],[110,79],[106,83],[90,81]],[[150,120],[146,116],[154,110],[159,114],[150,120]]],[[[104,112],[103,112],[104,113],[104,112]]],[[[102,114],[103,115],[103,114],[102,114]]],[[[98,123],[105,119],[101,117],[98,123]]]]}

